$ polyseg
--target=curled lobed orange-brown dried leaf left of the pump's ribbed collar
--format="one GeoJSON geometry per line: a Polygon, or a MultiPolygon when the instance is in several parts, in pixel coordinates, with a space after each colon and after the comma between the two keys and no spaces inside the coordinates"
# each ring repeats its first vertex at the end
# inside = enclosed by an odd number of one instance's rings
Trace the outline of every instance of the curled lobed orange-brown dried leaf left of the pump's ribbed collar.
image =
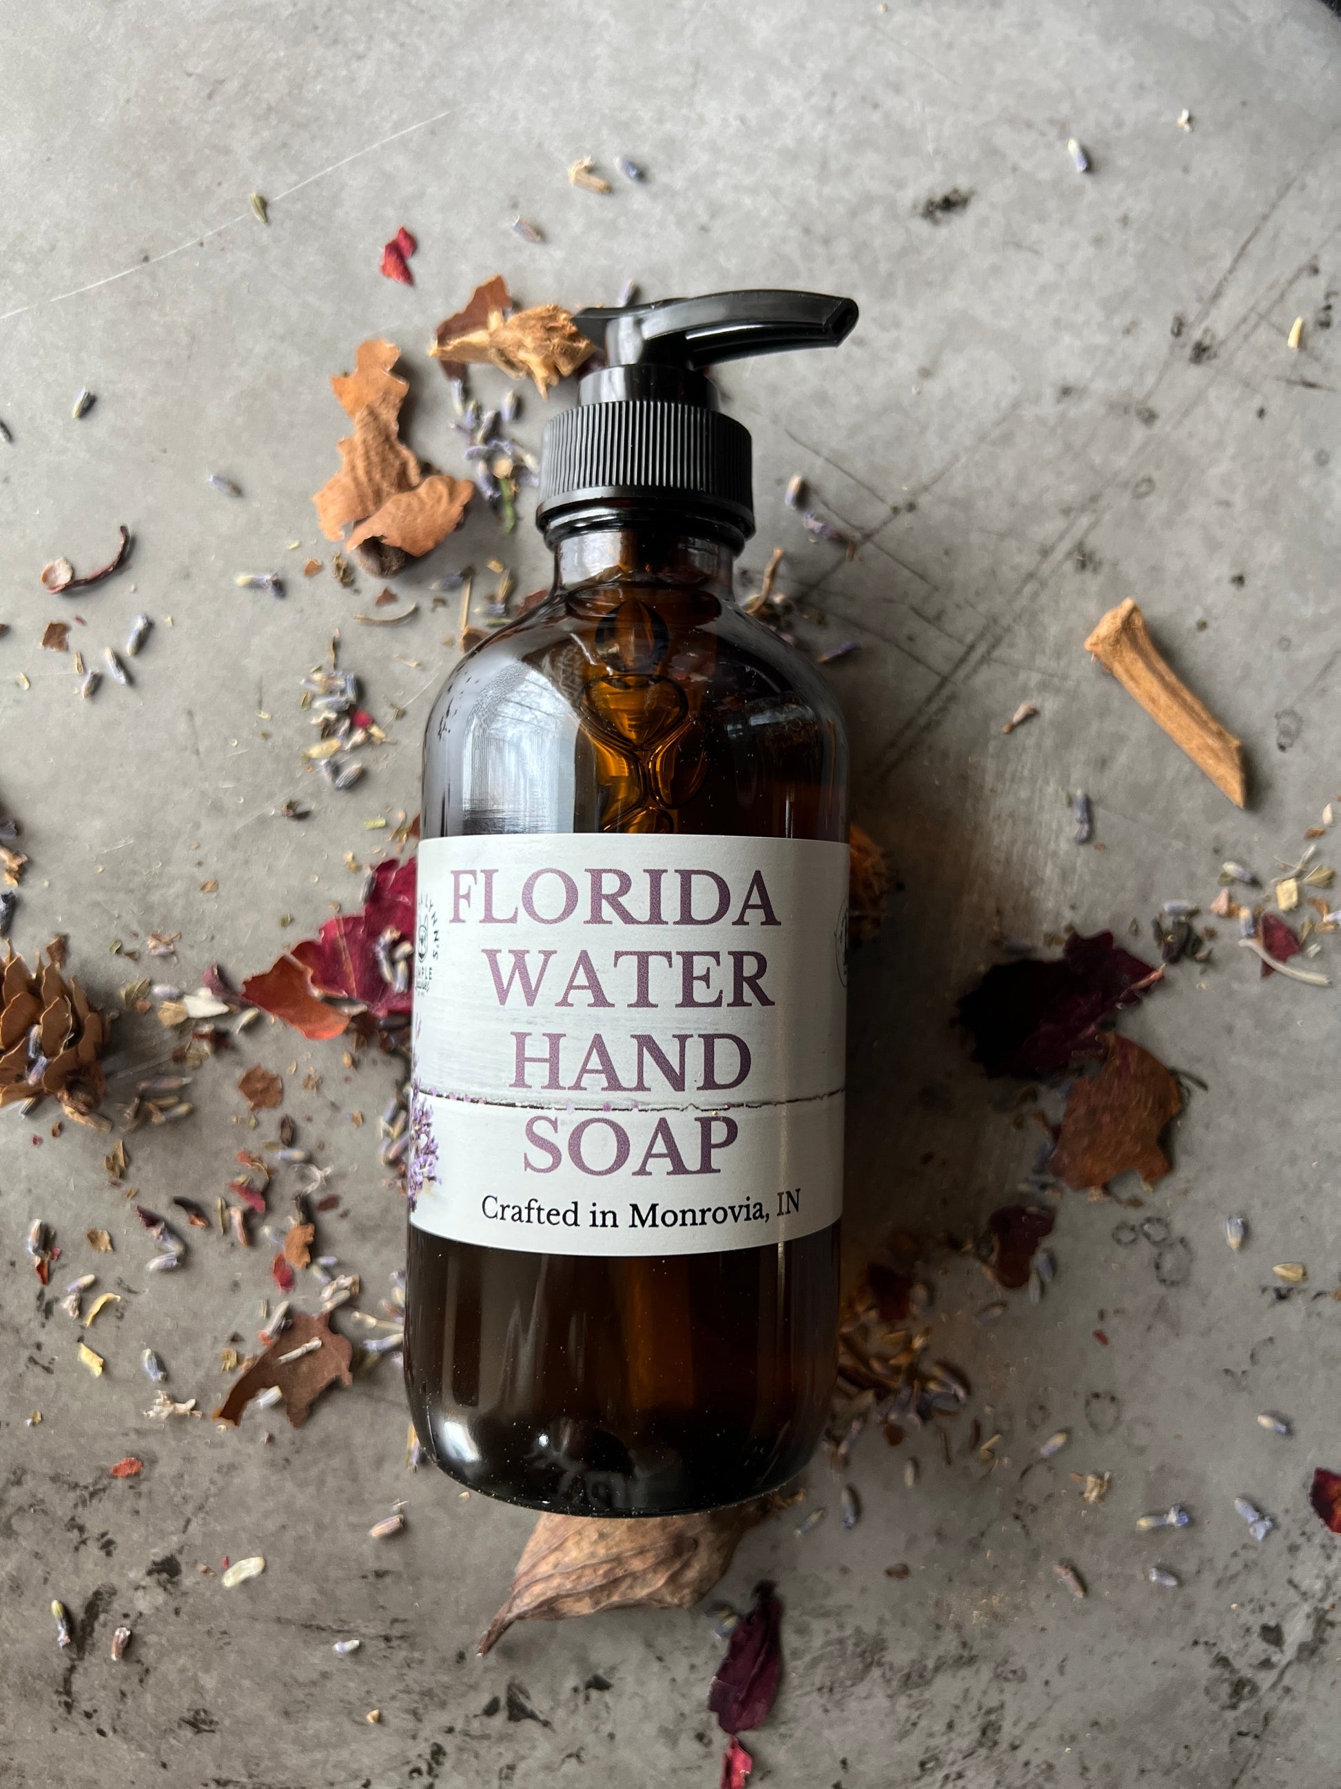
{"type": "Polygon", "coordinates": [[[393,342],[361,342],[352,374],[336,374],[331,390],[354,422],[340,447],[340,471],[313,497],[322,533],[340,540],[368,571],[390,576],[460,528],[474,485],[427,472],[401,440],[401,404],[409,392],[392,374],[401,358],[393,342]]]}

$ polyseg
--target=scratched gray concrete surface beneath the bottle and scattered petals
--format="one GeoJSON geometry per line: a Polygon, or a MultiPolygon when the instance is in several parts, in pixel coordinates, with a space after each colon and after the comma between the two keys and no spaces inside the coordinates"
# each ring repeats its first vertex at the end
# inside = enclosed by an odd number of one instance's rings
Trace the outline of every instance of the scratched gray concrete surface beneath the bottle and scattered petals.
{"type": "MultiPolygon", "coordinates": [[[[363,862],[386,837],[365,819],[413,812],[445,617],[354,626],[368,578],[361,596],[293,578],[284,603],[232,587],[236,571],[329,560],[308,499],[343,420],[325,376],[356,342],[402,345],[409,438],[456,465],[422,349],[495,270],[527,301],[611,301],[626,276],[647,293],[849,292],[862,326],[840,354],[724,379],[758,460],[744,564],[781,544],[783,587],[828,615],[808,639],[862,646],[831,674],[856,814],[903,884],[853,979],[849,1263],[890,1222],[971,1233],[1037,1143],[948,1025],[991,959],[994,914],[1033,939],[1132,918],[1146,934],[1160,900],[1214,894],[1221,857],[1268,873],[1295,855],[1337,793],[1337,352],[1316,322],[1337,281],[1337,30],[1316,0],[9,7],[0,800],[32,855],[18,946],[68,930],[75,970],[109,1002],[129,975],[111,941],[136,948],[148,930],[182,932],[170,973],[186,986],[211,959],[252,971],[350,902],[345,852],[363,862]],[[1191,132],[1175,125],[1184,107],[1191,132]],[[606,168],[633,156],[649,179],[576,191],[565,168],[581,154],[606,168]],[[967,209],[924,222],[949,188],[971,191],[967,209]],[[270,199],[268,229],[252,190],[270,199]],[[519,211],[544,247],[510,233],[519,211]],[[399,224],[422,243],[415,290],[377,274],[399,224]],[[1196,342],[1210,352],[1193,360],[1196,342]],[[80,386],[97,404],[73,422],[80,386]],[[207,490],[211,471],[245,497],[207,490]],[[851,564],[783,510],[797,471],[862,533],[851,564]],[[122,578],[79,601],[43,594],[46,560],[97,564],[122,521],[136,535],[122,578]],[[1246,739],[1246,814],[1080,649],[1128,594],[1246,739]],[[80,703],[68,658],[38,648],[43,624],[84,615],[93,660],[139,608],[159,624],[136,687],[80,703]],[[297,680],[334,626],[375,712],[406,708],[350,796],[299,759],[297,680]],[[1039,719],[1001,737],[1026,698],[1039,719]],[[1071,843],[1076,787],[1103,852],[1071,843]],[[315,801],[300,828],[272,818],[290,794],[315,801]],[[215,877],[218,893],[200,893],[215,877]]],[[[538,426],[529,401],[526,438],[538,426]]],[[[397,589],[424,598],[443,569],[499,549],[522,589],[544,578],[529,528],[501,542],[477,517],[397,589]]],[[[1323,941],[1320,961],[1334,957],[1323,941]]],[[[1041,1308],[1016,1299],[983,1329],[976,1265],[939,1270],[935,1347],[973,1379],[1001,1463],[966,1453],[967,1419],[949,1467],[930,1438],[890,1453],[867,1437],[853,1533],[831,1513],[805,1540],[787,1519],[746,1539],[722,1594],[742,1599],[769,1573],[787,1603],[756,1782],[1336,1780],[1341,1542],[1307,1508],[1311,1469],[1341,1467],[1341,1311],[1312,1295],[1341,1272],[1336,1014],[1336,993],[1259,982],[1227,943],[1126,1023],[1209,1082],[1148,1200],[1191,1247],[1187,1285],[1160,1288],[1148,1245],[1114,1245],[1123,1213],[1076,1195],[1060,1202],[1060,1276],[1041,1308]],[[1241,1256],[1219,1236],[1230,1209],[1252,1222],[1241,1256]],[[1282,1259],[1307,1261],[1311,1285],[1275,1302],[1282,1259]],[[1259,1429],[1262,1408],[1286,1412],[1293,1438],[1259,1429]],[[1073,1444],[1041,1465],[1055,1428],[1073,1444]],[[1071,1471],[1112,1472],[1107,1503],[1085,1506],[1071,1471]],[[1232,1512],[1239,1492],[1280,1522],[1262,1546],[1232,1512]],[[1159,1546],[1135,1533],[1173,1499],[1191,1530],[1159,1546]],[[1057,1558],[1085,1574],[1084,1603],[1057,1558]],[[1182,1589],[1144,1581],[1155,1560],[1182,1589]],[[885,1574],[899,1562],[903,1581],[885,1574]]],[[[152,1030],[123,1025],[129,1059],[152,1030]]],[[[336,1047],[295,1041],[266,1029],[206,1064],[188,1123],[131,1138],[131,1181],[150,1206],[213,1200],[249,1136],[238,1070],[284,1072],[286,1109],[324,1143],[343,1199],[325,1245],[374,1308],[401,1209],[349,1115],[377,1111],[390,1072],[349,1073],[336,1047]],[[302,1090],[308,1070],[318,1091],[302,1090]]],[[[302,1433],[148,1422],[141,1347],[211,1406],[220,1347],[256,1327],[266,1256],[202,1238],[188,1272],[147,1279],[105,1145],[52,1140],[48,1122],[4,1115],[0,1784],[717,1780],[703,1610],[519,1628],[474,1658],[529,1517],[408,1476],[392,1367],[331,1394],[302,1433]],[[98,1265],[123,1295],[91,1335],[100,1381],[34,1297],[34,1217],[57,1229],[59,1285],[98,1265]],[[111,1259],[89,1258],[89,1224],[113,1229],[111,1259]],[[32,1410],[43,1422],[25,1428],[32,1410]],[[145,1474],[114,1483],[125,1453],[145,1474]],[[409,1526],[379,1546],[367,1530],[395,1497],[409,1526]],[[234,1592],[198,1571],[256,1551],[266,1574],[234,1592]],[[57,1651],[54,1596],[82,1649],[57,1651]],[[136,1632],[122,1666],[107,1657],[118,1621],[136,1632]],[[363,1648],[336,1660],[343,1635],[363,1648]],[[585,1692],[592,1673],[613,1689],[585,1692]],[[549,1725],[481,1714],[510,1680],[549,1725]]],[[[822,1465],[810,1499],[833,1512],[822,1465]]]]}

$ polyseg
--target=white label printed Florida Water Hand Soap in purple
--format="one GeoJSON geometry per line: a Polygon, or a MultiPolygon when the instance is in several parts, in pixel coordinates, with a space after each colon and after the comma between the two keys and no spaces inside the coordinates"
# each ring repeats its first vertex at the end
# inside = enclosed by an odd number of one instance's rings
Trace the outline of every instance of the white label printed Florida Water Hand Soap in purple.
{"type": "Polygon", "coordinates": [[[828,1227],[846,954],[846,844],[426,839],[411,1222],[606,1256],[828,1227]]]}

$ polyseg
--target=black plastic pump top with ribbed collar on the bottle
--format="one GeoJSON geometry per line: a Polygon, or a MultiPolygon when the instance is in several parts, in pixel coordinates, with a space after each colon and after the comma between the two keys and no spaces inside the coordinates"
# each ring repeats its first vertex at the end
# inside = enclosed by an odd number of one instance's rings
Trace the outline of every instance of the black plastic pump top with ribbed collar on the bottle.
{"type": "Polygon", "coordinates": [[[665,510],[738,547],[755,533],[749,431],[721,413],[703,369],[837,347],[856,306],[822,292],[713,292],[572,320],[606,365],[581,381],[576,410],[545,424],[536,526],[552,538],[665,510]]]}

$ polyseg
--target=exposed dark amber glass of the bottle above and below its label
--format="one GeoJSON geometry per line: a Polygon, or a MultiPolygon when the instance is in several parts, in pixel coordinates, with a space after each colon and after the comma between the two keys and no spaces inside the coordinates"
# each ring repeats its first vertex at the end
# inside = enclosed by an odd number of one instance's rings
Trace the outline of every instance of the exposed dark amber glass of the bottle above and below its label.
{"type": "MultiPolygon", "coordinates": [[[[561,540],[551,596],[438,696],[424,837],[846,839],[842,719],[810,664],[735,606],[731,564],[713,540],[647,528],[561,540]]],[[[481,1249],[411,1224],[409,1408],[443,1471],[511,1503],[737,1503],[819,1440],[837,1301],[837,1224],[631,1259],[481,1249]]]]}

